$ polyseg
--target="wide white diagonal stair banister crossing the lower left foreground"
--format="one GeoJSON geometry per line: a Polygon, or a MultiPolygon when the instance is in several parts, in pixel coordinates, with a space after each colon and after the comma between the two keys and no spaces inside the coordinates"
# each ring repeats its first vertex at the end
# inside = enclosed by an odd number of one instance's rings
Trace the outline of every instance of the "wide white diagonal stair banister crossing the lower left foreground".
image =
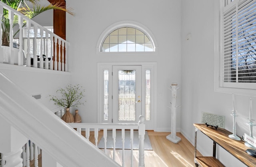
{"type": "Polygon", "coordinates": [[[120,167],[0,72],[0,116],[63,167],[120,167]]]}

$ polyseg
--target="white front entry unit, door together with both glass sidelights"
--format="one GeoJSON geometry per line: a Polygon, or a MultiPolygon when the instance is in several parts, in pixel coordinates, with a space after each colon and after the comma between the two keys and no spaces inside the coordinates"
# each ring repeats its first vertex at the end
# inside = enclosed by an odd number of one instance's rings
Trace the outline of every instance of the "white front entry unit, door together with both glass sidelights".
{"type": "Polygon", "coordinates": [[[156,63],[98,63],[98,122],[138,123],[147,130],[156,120],[156,63]]]}

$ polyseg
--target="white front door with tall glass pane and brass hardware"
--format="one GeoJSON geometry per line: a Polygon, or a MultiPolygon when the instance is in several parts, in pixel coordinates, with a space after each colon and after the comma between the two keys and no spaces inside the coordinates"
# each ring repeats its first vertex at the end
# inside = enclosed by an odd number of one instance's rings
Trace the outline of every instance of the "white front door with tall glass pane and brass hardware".
{"type": "Polygon", "coordinates": [[[142,66],[112,66],[113,123],[138,123],[142,115],[142,66]]]}

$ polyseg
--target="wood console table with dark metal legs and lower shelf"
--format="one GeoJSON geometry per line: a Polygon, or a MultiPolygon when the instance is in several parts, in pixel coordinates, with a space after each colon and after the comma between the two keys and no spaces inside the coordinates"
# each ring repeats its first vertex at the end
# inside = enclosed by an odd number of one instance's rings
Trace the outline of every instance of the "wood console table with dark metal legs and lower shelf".
{"type": "Polygon", "coordinates": [[[202,167],[224,167],[224,165],[216,159],[216,144],[224,148],[228,153],[239,159],[245,165],[252,167],[256,166],[256,158],[250,156],[245,151],[249,149],[244,145],[244,141],[237,141],[228,137],[232,134],[223,128],[217,128],[206,126],[206,124],[194,123],[195,126],[195,164],[202,167]],[[197,131],[200,130],[206,136],[213,140],[213,155],[212,157],[197,157],[196,156],[196,135],[197,131]]]}

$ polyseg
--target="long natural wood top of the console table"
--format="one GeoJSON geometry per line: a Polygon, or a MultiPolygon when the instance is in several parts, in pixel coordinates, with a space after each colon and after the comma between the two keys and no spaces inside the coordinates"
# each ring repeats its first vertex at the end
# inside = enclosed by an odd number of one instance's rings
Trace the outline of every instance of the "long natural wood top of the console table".
{"type": "Polygon", "coordinates": [[[242,139],[241,141],[237,141],[228,137],[228,135],[232,134],[230,131],[220,127],[217,129],[211,126],[207,127],[205,124],[201,123],[194,123],[194,126],[245,165],[250,167],[256,166],[256,158],[246,153],[246,149],[250,148],[244,145],[244,141],[242,141],[242,139]]]}

